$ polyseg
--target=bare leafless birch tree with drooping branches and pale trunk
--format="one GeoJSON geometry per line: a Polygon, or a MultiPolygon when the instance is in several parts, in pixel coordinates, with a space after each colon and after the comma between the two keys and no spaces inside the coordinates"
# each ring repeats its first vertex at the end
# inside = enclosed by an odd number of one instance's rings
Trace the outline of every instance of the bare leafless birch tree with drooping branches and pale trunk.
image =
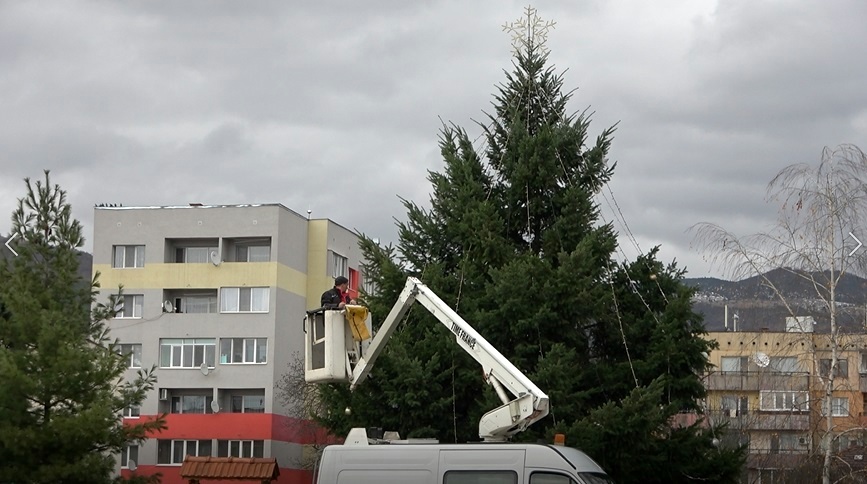
{"type": "MultiPolygon", "coordinates": [[[[826,415],[820,448],[822,483],[830,484],[837,435],[829,409],[841,343],[836,291],[845,273],[861,268],[864,249],[860,253],[854,249],[862,217],[867,215],[867,157],[854,145],[826,147],[818,165],[796,164],[779,172],[768,184],[767,201],[779,205],[777,223],[768,232],[739,237],[713,223],[697,224],[693,230],[699,249],[712,262],[733,280],[759,276],[792,317],[799,316],[793,295],[767,277],[772,269],[806,280],[827,312],[831,364],[819,375],[826,415]]],[[[867,232],[863,236],[867,239],[867,232]]]]}

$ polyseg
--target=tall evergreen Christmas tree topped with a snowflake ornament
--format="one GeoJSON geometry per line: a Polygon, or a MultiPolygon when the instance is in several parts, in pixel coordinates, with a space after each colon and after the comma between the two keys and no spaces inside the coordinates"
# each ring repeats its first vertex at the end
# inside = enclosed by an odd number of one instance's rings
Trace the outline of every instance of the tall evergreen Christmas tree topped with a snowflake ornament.
{"type": "MultiPolygon", "coordinates": [[[[672,423],[700,412],[712,348],[684,272],[658,261],[656,249],[613,260],[616,234],[593,201],[613,174],[613,127],[588,143],[589,119],[567,112],[571,93],[544,45],[522,40],[482,126],[485,152],[462,128],[444,126],[430,209],[404,201],[396,250],[362,242],[366,277],[378,287],[367,297],[374,318],[384,318],[407,275],[418,276],[548,393],[550,417],[518,438],[565,431],[621,483],[735,482],[743,449],[715,445],[722,429],[672,423]]],[[[321,421],[337,433],[376,425],[477,439],[479,418],[499,403],[453,338],[412,311],[370,381],[354,394],[323,389],[332,410],[321,421]]]]}

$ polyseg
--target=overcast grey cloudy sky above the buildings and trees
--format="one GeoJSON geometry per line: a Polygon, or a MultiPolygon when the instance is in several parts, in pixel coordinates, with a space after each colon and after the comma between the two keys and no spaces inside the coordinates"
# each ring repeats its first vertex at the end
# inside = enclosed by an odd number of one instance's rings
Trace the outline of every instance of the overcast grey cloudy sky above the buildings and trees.
{"type": "MultiPolygon", "coordinates": [[[[198,202],[282,203],[394,241],[399,197],[426,205],[442,168],[441,122],[475,136],[491,112],[502,25],[526,5],[0,0],[0,234],[47,168],[88,239],[94,204],[198,202]]],[[[593,137],[619,122],[599,203],[625,220],[620,258],[659,244],[719,275],[690,226],[757,232],[780,169],[867,149],[863,0],[533,6],[557,22],[571,109],[595,113],[593,137]]]]}

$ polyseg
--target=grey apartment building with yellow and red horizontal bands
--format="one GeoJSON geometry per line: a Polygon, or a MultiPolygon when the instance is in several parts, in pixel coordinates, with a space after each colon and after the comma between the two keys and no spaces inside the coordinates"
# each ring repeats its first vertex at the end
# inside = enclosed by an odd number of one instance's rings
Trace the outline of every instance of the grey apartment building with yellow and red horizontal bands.
{"type": "Polygon", "coordinates": [[[156,366],[157,387],[124,418],[167,414],[168,428],[126,449],[119,472],[175,484],[188,454],[275,457],[278,482],[310,482],[314,437],[275,382],[303,358],[305,310],[333,278],[358,291],[357,236],[279,204],[191,204],[97,207],[93,240],[100,300],[123,286],[110,329],[127,377],[156,366]]]}

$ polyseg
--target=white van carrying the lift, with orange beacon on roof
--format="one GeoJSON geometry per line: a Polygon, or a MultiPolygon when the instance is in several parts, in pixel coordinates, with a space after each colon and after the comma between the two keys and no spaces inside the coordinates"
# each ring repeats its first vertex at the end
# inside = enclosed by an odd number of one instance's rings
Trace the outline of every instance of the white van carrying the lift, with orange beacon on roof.
{"type": "MultiPolygon", "coordinates": [[[[364,429],[358,429],[362,432],[364,429]]],[[[368,444],[353,435],[330,445],[316,484],[611,484],[583,452],[562,445],[368,444]]]]}

